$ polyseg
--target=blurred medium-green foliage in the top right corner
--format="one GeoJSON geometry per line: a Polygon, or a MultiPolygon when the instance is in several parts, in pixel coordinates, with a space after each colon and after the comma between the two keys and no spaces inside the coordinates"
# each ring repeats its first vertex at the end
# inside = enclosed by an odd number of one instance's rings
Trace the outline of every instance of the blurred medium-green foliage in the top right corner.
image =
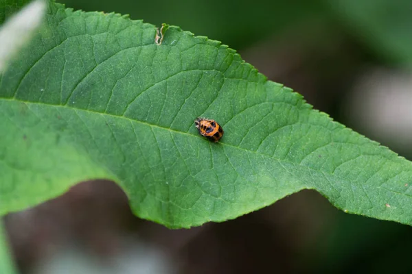
{"type": "Polygon", "coordinates": [[[378,59],[412,66],[412,1],[327,0],[336,18],[378,59]]]}

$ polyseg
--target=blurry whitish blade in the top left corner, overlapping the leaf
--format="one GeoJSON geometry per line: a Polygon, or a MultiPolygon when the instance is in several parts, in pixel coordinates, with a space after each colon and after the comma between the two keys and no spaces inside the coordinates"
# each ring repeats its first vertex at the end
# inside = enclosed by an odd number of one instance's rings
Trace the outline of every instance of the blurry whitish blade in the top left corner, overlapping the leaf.
{"type": "Polygon", "coordinates": [[[7,62],[26,42],[32,38],[41,25],[46,12],[46,3],[36,0],[5,21],[0,27],[0,73],[7,62]]]}

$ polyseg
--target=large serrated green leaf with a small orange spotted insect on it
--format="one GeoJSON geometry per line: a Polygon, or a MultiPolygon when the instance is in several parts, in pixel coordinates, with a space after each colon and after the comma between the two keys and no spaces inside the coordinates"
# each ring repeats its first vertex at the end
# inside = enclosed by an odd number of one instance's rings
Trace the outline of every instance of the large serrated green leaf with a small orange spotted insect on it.
{"type": "Polygon", "coordinates": [[[302,189],[412,224],[412,166],[270,82],[220,42],[51,4],[0,78],[0,212],[113,179],[141,218],[225,221],[302,189]],[[225,129],[218,143],[194,119],[225,129]]]}

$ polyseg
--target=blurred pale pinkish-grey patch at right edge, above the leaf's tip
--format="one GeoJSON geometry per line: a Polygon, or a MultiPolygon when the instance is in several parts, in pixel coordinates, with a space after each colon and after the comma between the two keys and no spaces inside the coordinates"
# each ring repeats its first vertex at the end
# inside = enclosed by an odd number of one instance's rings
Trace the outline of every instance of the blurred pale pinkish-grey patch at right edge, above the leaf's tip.
{"type": "Polygon", "coordinates": [[[382,139],[412,144],[412,73],[376,69],[354,87],[348,116],[382,139]]]}

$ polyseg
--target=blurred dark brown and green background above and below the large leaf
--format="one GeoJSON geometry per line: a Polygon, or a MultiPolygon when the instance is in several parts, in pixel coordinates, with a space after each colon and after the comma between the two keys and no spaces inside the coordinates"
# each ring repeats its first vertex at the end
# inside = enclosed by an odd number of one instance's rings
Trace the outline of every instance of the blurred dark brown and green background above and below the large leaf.
{"type": "MultiPolygon", "coordinates": [[[[238,50],[274,82],[412,160],[410,0],[60,0],[179,25],[238,50]]],[[[83,182],[9,214],[21,273],[410,272],[412,228],[344,214],[302,191],[225,223],[169,230],[113,182],[83,182]]]]}

